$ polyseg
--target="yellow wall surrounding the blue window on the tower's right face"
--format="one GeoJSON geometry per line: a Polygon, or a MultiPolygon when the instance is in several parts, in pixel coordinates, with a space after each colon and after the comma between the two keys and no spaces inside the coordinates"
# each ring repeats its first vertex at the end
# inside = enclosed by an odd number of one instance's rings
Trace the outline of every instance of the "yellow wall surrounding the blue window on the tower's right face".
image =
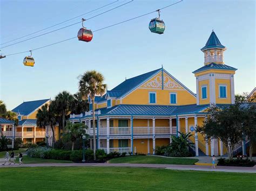
{"type": "Polygon", "coordinates": [[[230,80],[226,79],[215,79],[215,97],[216,103],[231,103],[231,91],[230,91],[230,80]],[[219,84],[227,85],[227,98],[219,98],[219,84]]]}

